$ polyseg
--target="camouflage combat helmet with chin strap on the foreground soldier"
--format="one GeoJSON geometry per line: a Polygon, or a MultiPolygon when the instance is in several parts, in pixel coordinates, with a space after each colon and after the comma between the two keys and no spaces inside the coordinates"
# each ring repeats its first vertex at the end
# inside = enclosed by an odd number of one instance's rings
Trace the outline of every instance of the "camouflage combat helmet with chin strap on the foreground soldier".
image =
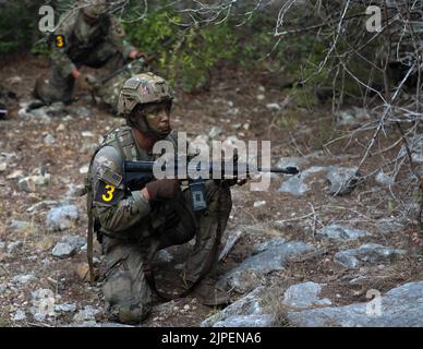
{"type": "Polygon", "coordinates": [[[118,115],[123,116],[128,124],[137,128],[140,131],[162,139],[167,134],[155,132],[146,120],[144,120],[144,124],[133,124],[130,115],[138,106],[143,107],[162,101],[167,101],[171,106],[172,100],[173,92],[165,79],[152,72],[136,74],[126,80],[121,88],[118,100],[118,115]]]}

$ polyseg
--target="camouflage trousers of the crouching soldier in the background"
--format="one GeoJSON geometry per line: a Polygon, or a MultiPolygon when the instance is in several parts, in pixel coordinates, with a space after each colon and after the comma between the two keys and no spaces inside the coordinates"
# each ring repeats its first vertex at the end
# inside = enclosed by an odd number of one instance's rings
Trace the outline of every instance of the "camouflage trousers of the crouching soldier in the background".
{"type": "MultiPolygon", "coordinates": [[[[83,65],[94,69],[104,68],[107,73],[111,73],[123,67],[125,60],[111,44],[104,43],[73,63],[77,69],[83,65]]],[[[64,75],[60,63],[52,61],[48,77],[37,80],[34,95],[46,103],[70,103],[74,84],[75,79],[72,75],[64,75]]]]}

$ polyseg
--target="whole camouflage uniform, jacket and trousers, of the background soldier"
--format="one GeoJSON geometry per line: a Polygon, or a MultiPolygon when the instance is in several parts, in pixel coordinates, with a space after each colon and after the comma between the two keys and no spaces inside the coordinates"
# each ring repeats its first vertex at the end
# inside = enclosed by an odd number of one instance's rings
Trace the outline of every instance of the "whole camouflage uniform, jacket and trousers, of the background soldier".
{"type": "Polygon", "coordinates": [[[119,21],[107,13],[89,25],[84,21],[83,10],[78,10],[65,13],[60,23],[55,36],[63,36],[64,47],[55,48],[48,79],[38,80],[35,86],[36,97],[47,103],[71,100],[75,69],[104,67],[112,72],[123,67],[129,53],[135,50],[125,43],[119,21]]]}

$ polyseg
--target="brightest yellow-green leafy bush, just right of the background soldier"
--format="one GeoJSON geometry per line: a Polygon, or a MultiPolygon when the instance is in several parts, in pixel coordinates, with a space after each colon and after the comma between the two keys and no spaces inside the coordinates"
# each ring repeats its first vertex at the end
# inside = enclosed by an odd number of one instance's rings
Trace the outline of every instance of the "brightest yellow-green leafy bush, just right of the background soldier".
{"type": "Polygon", "coordinates": [[[209,72],[237,52],[228,24],[184,28],[177,13],[157,11],[124,22],[126,34],[142,51],[156,58],[157,70],[180,87],[193,91],[209,83],[209,72]]]}

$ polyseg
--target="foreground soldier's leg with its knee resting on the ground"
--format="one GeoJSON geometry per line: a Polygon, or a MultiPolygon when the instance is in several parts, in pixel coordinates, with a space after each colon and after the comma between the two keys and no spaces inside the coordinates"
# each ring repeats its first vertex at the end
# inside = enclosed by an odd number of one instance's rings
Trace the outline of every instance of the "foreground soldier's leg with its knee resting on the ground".
{"type": "Polygon", "coordinates": [[[141,323],[152,303],[141,249],[136,244],[117,243],[114,239],[105,240],[107,272],[102,291],[107,310],[121,323],[141,323]]]}

